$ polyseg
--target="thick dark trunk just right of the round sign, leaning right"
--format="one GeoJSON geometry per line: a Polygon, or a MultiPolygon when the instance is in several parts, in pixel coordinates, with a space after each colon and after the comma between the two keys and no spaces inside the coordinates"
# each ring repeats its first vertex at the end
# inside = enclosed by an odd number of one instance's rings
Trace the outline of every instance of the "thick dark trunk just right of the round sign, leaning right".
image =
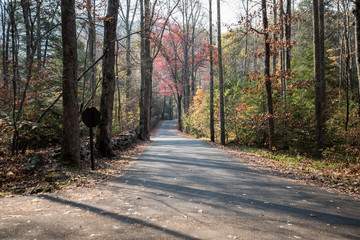
{"type": "Polygon", "coordinates": [[[115,93],[115,41],[119,0],[108,0],[104,22],[103,84],[100,101],[100,124],[96,145],[101,155],[111,157],[112,118],[115,93]]]}

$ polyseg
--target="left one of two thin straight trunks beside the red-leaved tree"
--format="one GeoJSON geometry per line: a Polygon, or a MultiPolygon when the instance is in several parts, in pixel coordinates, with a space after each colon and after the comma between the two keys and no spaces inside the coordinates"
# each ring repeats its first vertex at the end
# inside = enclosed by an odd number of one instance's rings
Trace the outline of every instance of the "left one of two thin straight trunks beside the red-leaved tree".
{"type": "Polygon", "coordinates": [[[212,30],[212,0],[209,0],[209,55],[210,55],[210,139],[215,142],[214,128],[214,60],[213,60],[213,30],[212,30]]]}

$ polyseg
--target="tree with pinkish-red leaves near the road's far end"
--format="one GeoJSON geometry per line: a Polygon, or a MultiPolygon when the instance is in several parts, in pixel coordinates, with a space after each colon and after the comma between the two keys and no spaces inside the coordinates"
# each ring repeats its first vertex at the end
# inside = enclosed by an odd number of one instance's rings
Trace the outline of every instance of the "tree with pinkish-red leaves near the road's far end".
{"type": "MultiPolygon", "coordinates": [[[[184,74],[190,75],[188,71],[192,69],[196,74],[204,68],[207,61],[207,44],[200,37],[196,37],[197,46],[195,46],[192,56],[186,54],[189,48],[184,41],[189,39],[182,31],[182,25],[176,22],[168,22],[165,25],[164,35],[159,47],[159,55],[155,60],[154,79],[157,83],[157,91],[161,95],[172,96],[176,99],[178,113],[178,129],[183,130],[183,120],[189,121],[184,106],[184,97],[190,94],[190,82],[186,80],[184,74]],[[188,60],[185,60],[188,58],[188,60]],[[190,67],[194,66],[194,67],[190,67]],[[188,90],[187,87],[189,87],[188,90]],[[183,116],[183,112],[185,116],[183,116]]],[[[188,96],[190,98],[190,96],[188,96]]],[[[187,124],[187,127],[191,127],[187,124]]],[[[190,129],[189,129],[190,130],[190,129]]]]}

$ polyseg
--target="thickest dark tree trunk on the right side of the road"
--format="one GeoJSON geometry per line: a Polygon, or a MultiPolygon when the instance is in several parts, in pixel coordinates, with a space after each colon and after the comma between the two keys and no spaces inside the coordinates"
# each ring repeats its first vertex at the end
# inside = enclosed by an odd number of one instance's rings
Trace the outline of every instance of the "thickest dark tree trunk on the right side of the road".
{"type": "Polygon", "coordinates": [[[324,4],[323,0],[313,0],[314,29],[314,78],[316,154],[321,155],[325,142],[326,83],[324,71],[324,4]]]}

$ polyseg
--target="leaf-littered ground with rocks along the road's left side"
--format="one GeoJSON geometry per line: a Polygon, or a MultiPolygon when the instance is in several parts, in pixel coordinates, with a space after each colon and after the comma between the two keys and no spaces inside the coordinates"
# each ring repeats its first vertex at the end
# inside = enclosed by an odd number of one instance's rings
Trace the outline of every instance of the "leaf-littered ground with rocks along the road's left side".
{"type": "MultiPolygon", "coordinates": [[[[86,145],[87,138],[81,140],[86,145]]],[[[125,173],[126,166],[136,159],[149,142],[140,142],[124,150],[116,150],[111,159],[96,156],[95,170],[91,170],[89,158],[81,160],[75,168],[59,161],[61,149],[48,147],[29,151],[26,155],[13,157],[4,152],[0,156],[0,197],[13,194],[56,192],[65,188],[90,186],[125,173]],[[28,171],[26,166],[33,156],[42,159],[42,166],[28,171]]]]}

